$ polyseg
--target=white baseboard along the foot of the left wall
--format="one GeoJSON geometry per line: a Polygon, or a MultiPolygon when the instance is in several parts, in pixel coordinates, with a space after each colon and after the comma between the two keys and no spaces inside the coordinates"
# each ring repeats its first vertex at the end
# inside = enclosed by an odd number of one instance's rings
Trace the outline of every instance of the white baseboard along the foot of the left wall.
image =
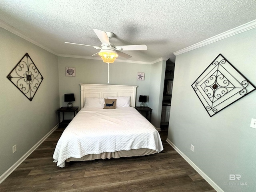
{"type": "Polygon", "coordinates": [[[32,152],[34,152],[34,150],[36,150],[36,148],[38,148],[40,146],[40,144],[42,144],[42,142],[44,142],[44,140],[46,140],[46,138],[48,138],[48,136],[50,136],[50,134],[52,134],[52,132],[54,132],[54,130],[56,130],[56,128],[58,128],[58,124],[56,126],[54,126],[54,128],[52,128],[52,130],[50,130],[50,132],[48,132],[48,134],[46,134],[40,141],[38,141],[30,150],[28,150],[28,152],[26,152],[16,163],[14,163],[8,170],[6,170],[6,172],[4,172],[4,174],[2,174],[0,176],[0,184],[26,159],[28,158],[28,156],[30,156],[30,154],[32,154],[32,152]]]}

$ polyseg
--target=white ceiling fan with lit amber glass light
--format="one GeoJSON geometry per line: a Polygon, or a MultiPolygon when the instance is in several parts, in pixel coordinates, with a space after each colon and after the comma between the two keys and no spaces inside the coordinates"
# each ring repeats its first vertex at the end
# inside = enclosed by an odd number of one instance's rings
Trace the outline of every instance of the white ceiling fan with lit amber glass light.
{"type": "Polygon", "coordinates": [[[78,44],[78,43],[71,43],[71,42],[65,42],[68,44],[76,44],[76,45],[83,45],[83,46],[90,46],[94,47],[97,50],[100,50],[99,52],[93,54],[92,56],[99,54],[105,63],[113,63],[116,57],[120,56],[123,58],[131,58],[132,56],[123,53],[121,51],[136,51],[136,50],[147,50],[146,45],[122,45],[122,46],[115,46],[113,44],[110,44],[110,39],[114,36],[114,33],[112,32],[104,32],[98,29],[93,29],[98,38],[100,39],[100,42],[102,43],[101,46],[92,46],[92,45],[85,45],[85,44],[78,44]]]}

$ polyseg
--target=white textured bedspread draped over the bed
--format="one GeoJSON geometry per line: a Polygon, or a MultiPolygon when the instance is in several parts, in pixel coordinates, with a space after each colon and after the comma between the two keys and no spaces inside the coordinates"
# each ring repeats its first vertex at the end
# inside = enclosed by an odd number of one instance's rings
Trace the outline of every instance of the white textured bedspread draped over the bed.
{"type": "Polygon", "coordinates": [[[70,157],[140,148],[163,150],[158,131],[135,108],[82,108],[62,133],[53,158],[64,167],[70,157]]]}

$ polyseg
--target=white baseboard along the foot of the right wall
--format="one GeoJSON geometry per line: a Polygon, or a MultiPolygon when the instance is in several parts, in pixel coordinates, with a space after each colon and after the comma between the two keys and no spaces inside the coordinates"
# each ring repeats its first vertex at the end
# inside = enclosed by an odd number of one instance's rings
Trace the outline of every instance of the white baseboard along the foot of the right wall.
{"type": "Polygon", "coordinates": [[[169,139],[166,139],[166,142],[170,144],[170,146],[172,146],[172,148],[174,148],[174,150],[176,150],[176,152],[178,152],[178,154],[180,154],[180,156],[182,156],[182,158],[184,158],[184,160],[186,160],[186,162],[188,162],[188,164],[190,164],[190,166],[192,166],[192,168],[194,168],[194,170],[196,170],[196,172],[198,172],[198,174],[200,174],[200,176],[202,176],[202,178],[204,178],[204,180],[206,180],[206,182],[208,182],[208,184],[210,184],[210,186],[214,188],[214,190],[216,190],[217,192],[224,192],[198,166],[196,166],[196,164],[194,164],[184,153],[182,153],[169,139]]]}

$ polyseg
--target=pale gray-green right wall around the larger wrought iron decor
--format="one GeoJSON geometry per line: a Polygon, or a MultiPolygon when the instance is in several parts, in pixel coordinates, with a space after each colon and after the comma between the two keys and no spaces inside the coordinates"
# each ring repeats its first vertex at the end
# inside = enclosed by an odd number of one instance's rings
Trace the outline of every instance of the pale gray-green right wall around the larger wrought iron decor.
{"type": "Polygon", "coordinates": [[[210,117],[191,84],[221,53],[256,85],[255,50],[254,28],[176,56],[168,139],[225,192],[256,191],[256,91],[210,117]]]}

